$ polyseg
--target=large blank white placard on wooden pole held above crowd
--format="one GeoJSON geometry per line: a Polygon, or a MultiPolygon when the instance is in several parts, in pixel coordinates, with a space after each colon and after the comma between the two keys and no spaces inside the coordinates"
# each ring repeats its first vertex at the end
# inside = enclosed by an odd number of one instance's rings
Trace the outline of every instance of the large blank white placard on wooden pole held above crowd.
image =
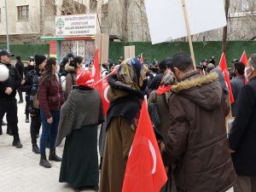
{"type": "MultiPolygon", "coordinates": [[[[188,36],[181,0],[145,0],[152,44],[188,36]]],[[[227,25],[223,0],[186,0],[191,35],[227,25]]]]}

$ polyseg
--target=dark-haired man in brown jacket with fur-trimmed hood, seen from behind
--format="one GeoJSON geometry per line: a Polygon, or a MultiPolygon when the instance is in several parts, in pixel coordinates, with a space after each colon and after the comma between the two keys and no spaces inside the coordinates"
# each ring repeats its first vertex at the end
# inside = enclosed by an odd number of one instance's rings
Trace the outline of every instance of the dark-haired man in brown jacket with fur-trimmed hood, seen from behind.
{"type": "Polygon", "coordinates": [[[178,192],[224,192],[232,187],[236,173],[225,129],[230,108],[218,73],[201,76],[184,52],[173,56],[171,70],[179,83],[172,86],[169,100],[163,160],[175,165],[178,192]]]}

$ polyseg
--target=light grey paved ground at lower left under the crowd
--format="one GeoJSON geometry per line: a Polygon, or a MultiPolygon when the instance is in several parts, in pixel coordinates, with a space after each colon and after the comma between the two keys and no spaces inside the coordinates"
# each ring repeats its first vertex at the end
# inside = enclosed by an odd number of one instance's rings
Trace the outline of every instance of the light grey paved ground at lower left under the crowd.
{"type": "MultiPolygon", "coordinates": [[[[23,148],[12,146],[13,137],[6,134],[6,126],[3,126],[3,135],[0,136],[0,192],[73,192],[67,183],[58,182],[61,163],[51,161],[50,169],[39,166],[40,155],[32,152],[30,124],[25,123],[24,111],[25,102],[18,104],[23,148]]],[[[56,153],[61,155],[62,150],[63,144],[56,148],[56,153]]],[[[48,148],[46,153],[49,154],[48,148]]]]}

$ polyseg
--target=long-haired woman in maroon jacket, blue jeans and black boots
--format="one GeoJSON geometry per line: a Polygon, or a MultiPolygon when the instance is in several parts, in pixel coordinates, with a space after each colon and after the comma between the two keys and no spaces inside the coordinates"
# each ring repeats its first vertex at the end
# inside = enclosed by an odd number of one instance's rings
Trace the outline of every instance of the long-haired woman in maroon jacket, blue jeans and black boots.
{"type": "Polygon", "coordinates": [[[43,131],[40,138],[40,166],[50,168],[51,165],[46,159],[45,147],[49,137],[49,160],[61,161],[55,154],[55,140],[60,120],[60,109],[64,102],[61,90],[61,80],[56,74],[58,63],[54,57],[50,57],[44,67],[44,73],[39,80],[38,98],[40,103],[40,115],[43,131]]]}

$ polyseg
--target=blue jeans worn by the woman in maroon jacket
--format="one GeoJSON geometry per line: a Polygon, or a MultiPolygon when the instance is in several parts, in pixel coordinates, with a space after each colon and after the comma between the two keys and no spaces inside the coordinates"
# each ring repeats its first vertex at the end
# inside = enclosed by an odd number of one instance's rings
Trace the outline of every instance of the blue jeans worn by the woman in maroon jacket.
{"type": "Polygon", "coordinates": [[[49,148],[55,148],[56,137],[58,134],[58,125],[60,120],[60,111],[50,111],[53,119],[52,124],[47,123],[47,117],[44,114],[43,109],[40,108],[40,115],[42,120],[42,134],[40,138],[40,152],[45,154],[46,142],[49,137],[49,148]]]}

